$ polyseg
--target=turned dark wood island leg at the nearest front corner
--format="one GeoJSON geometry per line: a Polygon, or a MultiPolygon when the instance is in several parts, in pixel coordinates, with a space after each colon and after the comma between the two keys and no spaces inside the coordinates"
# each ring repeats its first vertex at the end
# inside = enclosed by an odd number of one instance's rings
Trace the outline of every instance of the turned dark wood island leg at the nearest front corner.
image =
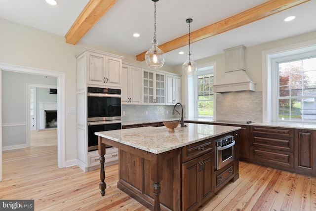
{"type": "Polygon", "coordinates": [[[154,187],[154,211],[160,210],[161,193],[160,181],[162,180],[162,156],[161,154],[153,155],[151,160],[151,179],[153,180],[154,187]]]}

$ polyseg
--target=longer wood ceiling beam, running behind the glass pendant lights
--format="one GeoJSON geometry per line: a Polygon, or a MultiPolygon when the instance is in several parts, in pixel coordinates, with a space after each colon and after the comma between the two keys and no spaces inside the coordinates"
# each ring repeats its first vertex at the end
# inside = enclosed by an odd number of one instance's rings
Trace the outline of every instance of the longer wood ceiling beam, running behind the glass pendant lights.
{"type": "MultiPolygon", "coordinates": [[[[301,3],[305,3],[310,0],[269,0],[248,10],[240,12],[234,16],[228,17],[214,24],[208,25],[194,32],[191,32],[191,43],[203,40],[205,38],[212,37],[214,35],[221,34],[223,32],[235,29],[237,27],[252,23],[254,21],[260,20],[262,18],[273,15],[277,12],[283,11],[285,9],[297,6],[301,3]]],[[[189,34],[183,35],[172,41],[165,42],[158,47],[163,52],[169,52],[175,50],[179,47],[183,47],[189,44],[189,34]]],[[[145,54],[147,51],[138,54],[136,59],[138,61],[145,60],[145,54]]]]}

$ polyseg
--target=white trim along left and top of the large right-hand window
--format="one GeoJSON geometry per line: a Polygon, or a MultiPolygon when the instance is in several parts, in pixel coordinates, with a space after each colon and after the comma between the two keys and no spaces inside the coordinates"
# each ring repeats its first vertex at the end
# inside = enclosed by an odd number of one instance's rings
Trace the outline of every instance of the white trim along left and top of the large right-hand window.
{"type": "Polygon", "coordinates": [[[300,42],[292,45],[278,47],[262,51],[262,122],[277,122],[276,113],[273,113],[272,106],[275,105],[276,93],[273,93],[273,68],[275,59],[280,57],[291,56],[293,54],[303,54],[316,50],[316,40],[300,42]]]}

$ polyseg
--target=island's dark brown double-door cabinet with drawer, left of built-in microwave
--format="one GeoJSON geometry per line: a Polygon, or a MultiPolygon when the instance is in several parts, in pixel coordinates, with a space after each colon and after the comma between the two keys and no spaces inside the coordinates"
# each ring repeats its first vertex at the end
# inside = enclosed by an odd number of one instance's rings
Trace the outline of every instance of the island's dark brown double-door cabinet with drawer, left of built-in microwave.
{"type": "Polygon", "coordinates": [[[182,210],[197,210],[214,194],[214,139],[182,148],[182,210]]]}

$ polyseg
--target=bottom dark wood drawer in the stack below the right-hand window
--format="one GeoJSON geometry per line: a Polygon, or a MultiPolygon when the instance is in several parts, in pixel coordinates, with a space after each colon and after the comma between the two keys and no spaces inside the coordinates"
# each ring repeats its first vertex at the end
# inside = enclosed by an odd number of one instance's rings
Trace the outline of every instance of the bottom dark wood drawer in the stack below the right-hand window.
{"type": "Polygon", "coordinates": [[[293,153],[291,152],[251,147],[250,159],[259,163],[262,162],[264,166],[273,164],[283,167],[293,167],[293,153]]]}

